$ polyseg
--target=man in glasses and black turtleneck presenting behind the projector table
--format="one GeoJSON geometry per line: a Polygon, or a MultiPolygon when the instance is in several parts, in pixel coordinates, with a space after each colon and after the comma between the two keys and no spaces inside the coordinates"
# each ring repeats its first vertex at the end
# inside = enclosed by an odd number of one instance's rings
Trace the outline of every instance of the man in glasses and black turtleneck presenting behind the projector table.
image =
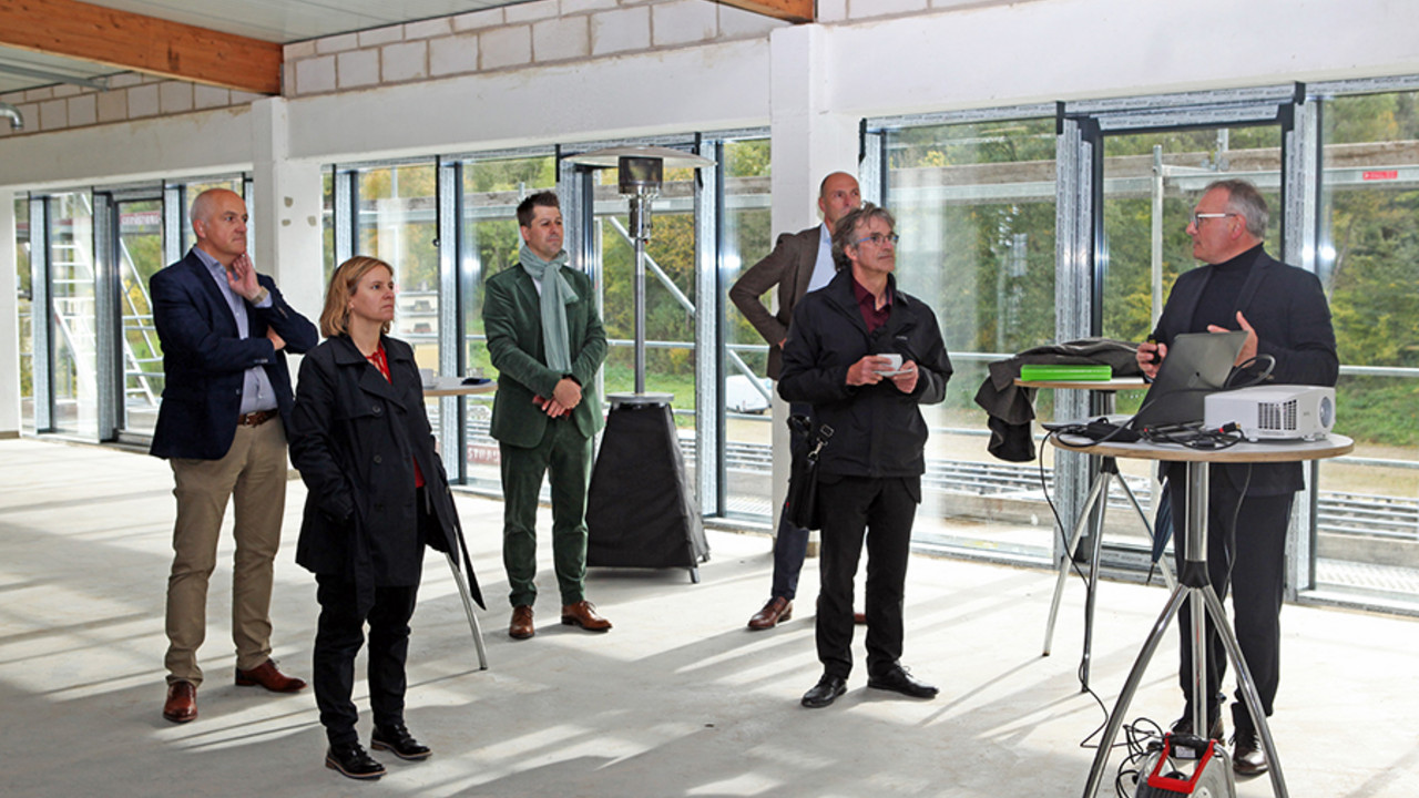
{"type": "MultiPolygon", "coordinates": [[[[1168,345],[1182,332],[1244,329],[1246,344],[1237,365],[1253,356],[1276,361],[1269,379],[1279,385],[1335,385],[1340,358],[1331,328],[1330,305],[1314,274],[1286,266],[1261,248],[1267,224],[1266,200],[1244,180],[1218,180],[1208,186],[1192,213],[1188,234],[1192,254],[1209,264],[1178,277],[1168,295],[1154,341],[1138,346],[1138,365],[1149,378],[1168,355],[1168,345]],[[1154,361],[1156,355],[1156,361],[1154,361]]],[[[1186,507],[1186,469],[1169,467],[1168,501],[1186,507]]],[[[1286,579],[1286,531],[1291,501],[1305,487],[1300,463],[1212,466],[1208,491],[1208,575],[1218,598],[1232,588],[1237,643],[1256,680],[1267,717],[1280,682],[1281,599],[1286,579]]],[[[1182,540],[1183,513],[1175,511],[1175,541],[1182,540]]],[[[1181,562],[1179,562],[1181,568],[1181,562]]],[[[1192,728],[1192,639],[1186,603],[1179,613],[1182,638],[1181,684],[1188,696],[1182,720],[1174,731],[1192,728]]],[[[1208,734],[1222,737],[1219,693],[1226,673],[1226,652],[1216,632],[1208,629],[1208,734]]],[[[1264,772],[1270,763],[1261,750],[1256,724],[1237,689],[1232,704],[1236,724],[1233,770],[1243,775],[1264,772]]]]}

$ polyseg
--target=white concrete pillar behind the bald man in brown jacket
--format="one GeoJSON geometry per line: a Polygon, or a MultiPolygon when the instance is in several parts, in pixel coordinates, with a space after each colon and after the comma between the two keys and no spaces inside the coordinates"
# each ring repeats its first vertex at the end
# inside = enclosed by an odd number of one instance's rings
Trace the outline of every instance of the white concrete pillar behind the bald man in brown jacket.
{"type": "MultiPolygon", "coordinates": [[[[773,142],[773,230],[803,230],[822,222],[817,186],[830,172],[857,173],[856,116],[830,108],[827,64],[833,62],[833,30],[795,26],[769,34],[769,135],[773,142]]],[[[773,524],[788,493],[788,405],[773,402],[773,524]]]]}

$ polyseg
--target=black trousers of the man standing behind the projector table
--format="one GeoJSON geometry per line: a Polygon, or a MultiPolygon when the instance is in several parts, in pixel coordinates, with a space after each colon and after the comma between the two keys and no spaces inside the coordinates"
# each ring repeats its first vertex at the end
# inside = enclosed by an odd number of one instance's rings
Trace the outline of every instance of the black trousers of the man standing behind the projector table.
{"type": "MultiPolygon", "coordinates": [[[[1168,480],[1168,501],[1172,504],[1174,548],[1178,569],[1182,569],[1182,541],[1186,535],[1183,508],[1186,480],[1168,480]]],[[[1232,592],[1232,626],[1242,647],[1261,709],[1271,716],[1276,689],[1281,680],[1281,601],[1286,589],[1286,531],[1291,520],[1294,493],[1280,496],[1243,497],[1232,481],[1213,470],[1208,480],[1208,578],[1219,599],[1232,592]],[[1240,504],[1240,507],[1239,507],[1240,504]],[[1233,527],[1233,518],[1236,525],[1233,527]],[[1229,574],[1230,569],[1230,574],[1229,574]]],[[[1179,684],[1186,699],[1186,714],[1192,714],[1192,612],[1183,602],[1178,613],[1178,633],[1182,649],[1179,684]]],[[[1220,684],[1227,672],[1227,653],[1213,623],[1206,628],[1208,642],[1208,717],[1220,711],[1220,684]]],[[[1250,728],[1250,716],[1242,704],[1233,710],[1237,726],[1250,728]]],[[[1210,723],[1210,720],[1209,720],[1210,723]]]]}

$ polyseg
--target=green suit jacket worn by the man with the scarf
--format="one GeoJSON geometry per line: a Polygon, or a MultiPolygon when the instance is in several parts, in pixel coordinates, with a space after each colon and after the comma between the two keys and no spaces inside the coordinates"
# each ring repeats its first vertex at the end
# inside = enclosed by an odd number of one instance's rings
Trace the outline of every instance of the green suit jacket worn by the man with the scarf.
{"type": "MultiPolygon", "coordinates": [[[[572,376],[582,383],[582,402],[572,409],[572,422],[583,436],[590,437],[606,423],[593,382],[596,369],[606,359],[606,331],[596,312],[592,278],[565,266],[562,275],[576,291],[576,301],[566,305],[572,376]]],[[[536,446],[551,419],[532,403],[532,398],[549,399],[563,375],[549,369],[543,361],[542,300],[532,277],[521,266],[514,264],[488,278],[482,328],[492,368],[498,369],[492,437],[524,449],[536,446]]]]}

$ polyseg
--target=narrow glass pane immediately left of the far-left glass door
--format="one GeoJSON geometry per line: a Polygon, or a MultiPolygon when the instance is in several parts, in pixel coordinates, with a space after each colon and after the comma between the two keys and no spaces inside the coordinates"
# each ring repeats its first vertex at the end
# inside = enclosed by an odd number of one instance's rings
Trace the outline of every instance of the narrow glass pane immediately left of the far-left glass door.
{"type": "Polygon", "coordinates": [[[88,192],[50,197],[54,432],[98,439],[94,207],[88,192]]]}

